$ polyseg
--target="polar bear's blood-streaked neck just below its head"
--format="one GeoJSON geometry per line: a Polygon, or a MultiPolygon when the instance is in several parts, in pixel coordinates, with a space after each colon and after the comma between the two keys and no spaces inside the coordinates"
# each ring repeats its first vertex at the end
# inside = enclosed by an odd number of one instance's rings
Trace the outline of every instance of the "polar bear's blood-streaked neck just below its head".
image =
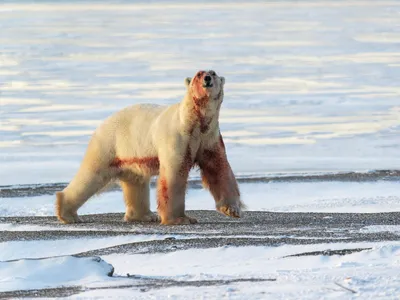
{"type": "Polygon", "coordinates": [[[188,92],[181,103],[180,119],[185,132],[201,135],[218,130],[219,110],[222,92],[218,99],[197,98],[188,92]],[[217,104],[218,103],[218,104],[217,104]]]}

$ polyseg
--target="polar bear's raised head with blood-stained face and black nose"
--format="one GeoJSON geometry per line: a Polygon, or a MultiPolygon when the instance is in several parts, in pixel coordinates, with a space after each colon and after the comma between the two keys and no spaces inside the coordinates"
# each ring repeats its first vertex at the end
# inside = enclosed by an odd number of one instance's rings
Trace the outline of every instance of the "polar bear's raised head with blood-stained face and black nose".
{"type": "Polygon", "coordinates": [[[219,104],[223,99],[225,78],[213,70],[198,71],[193,78],[186,78],[185,84],[198,104],[219,104]]]}

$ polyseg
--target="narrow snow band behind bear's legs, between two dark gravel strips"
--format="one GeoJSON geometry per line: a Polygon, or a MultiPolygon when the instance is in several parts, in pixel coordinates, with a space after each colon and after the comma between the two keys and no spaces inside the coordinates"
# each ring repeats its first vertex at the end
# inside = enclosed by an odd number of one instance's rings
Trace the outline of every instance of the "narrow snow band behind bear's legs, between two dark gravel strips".
{"type": "MultiPolygon", "coordinates": [[[[275,212],[395,212],[400,210],[398,181],[377,182],[269,182],[239,185],[250,211],[275,212]]],[[[156,210],[155,189],[150,190],[151,209],[156,210]]],[[[0,217],[53,216],[54,195],[1,198],[0,217]]],[[[186,209],[215,210],[209,191],[188,189],[186,209]]],[[[121,213],[125,205],[121,191],[89,199],[80,214],[121,213]]]]}

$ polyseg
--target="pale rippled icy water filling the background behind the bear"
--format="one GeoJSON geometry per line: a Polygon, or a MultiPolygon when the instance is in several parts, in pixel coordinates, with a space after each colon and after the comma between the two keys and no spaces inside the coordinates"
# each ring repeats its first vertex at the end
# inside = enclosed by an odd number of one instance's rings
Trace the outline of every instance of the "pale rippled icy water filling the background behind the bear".
{"type": "Polygon", "coordinates": [[[238,175],[400,168],[400,2],[0,5],[0,185],[68,182],[95,127],[226,77],[238,175]]]}

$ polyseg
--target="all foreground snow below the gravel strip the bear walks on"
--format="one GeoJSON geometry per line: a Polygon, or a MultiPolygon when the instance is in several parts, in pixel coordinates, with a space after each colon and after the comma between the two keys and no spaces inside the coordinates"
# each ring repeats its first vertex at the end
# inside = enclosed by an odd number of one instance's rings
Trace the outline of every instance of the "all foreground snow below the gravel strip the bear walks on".
{"type": "MultiPolygon", "coordinates": [[[[105,238],[112,241],[113,238],[105,238]]],[[[102,241],[104,243],[104,241],[102,241]]],[[[116,241],[114,240],[114,243],[116,241]]],[[[122,242],[119,241],[119,242],[122,242]]],[[[10,244],[10,249],[32,248],[31,242],[10,244]]],[[[46,241],[42,255],[51,254],[46,241]]],[[[92,241],[80,240],[80,245],[92,241]]],[[[107,243],[105,243],[107,245],[107,243]]],[[[110,245],[110,244],[109,244],[110,245]]],[[[95,246],[95,245],[94,245],[95,246]]],[[[60,248],[74,249],[74,242],[59,245],[60,248]]],[[[0,251],[3,253],[3,251],[0,251]]],[[[27,253],[27,252],[26,252],[27,253]]],[[[25,253],[25,254],[26,254],[25,253]]],[[[351,296],[351,293],[336,285],[345,286],[357,292],[354,297],[395,299],[400,293],[400,243],[335,243],[319,245],[282,245],[279,247],[220,247],[212,249],[190,249],[157,254],[112,254],[93,258],[58,256],[42,259],[25,259],[24,253],[16,252],[13,259],[0,262],[0,291],[18,289],[39,289],[60,286],[112,287],[135,284],[126,277],[132,274],[141,280],[175,280],[183,282],[246,279],[275,279],[262,284],[257,282],[230,283],[225,286],[196,287],[196,294],[220,298],[227,292],[234,299],[241,297],[259,299],[272,297],[321,298],[351,296]],[[345,256],[300,256],[287,257],[309,251],[326,249],[372,248],[345,256]],[[193,257],[196,259],[194,260],[193,257]],[[107,277],[112,265],[115,276],[107,277]],[[71,270],[74,270],[71,272],[71,270]],[[39,279],[40,278],[40,279],[39,279]]],[[[4,257],[1,258],[2,260],[4,257]]],[[[138,285],[139,283],[136,282],[138,285]]],[[[117,297],[175,297],[193,298],[190,286],[165,289],[150,289],[143,294],[140,289],[126,291],[113,289],[93,290],[80,293],[79,297],[112,295],[117,297]]],[[[72,297],[74,298],[74,297],[72,297]]],[[[304,299],[305,299],[304,298],[304,299]]]]}

